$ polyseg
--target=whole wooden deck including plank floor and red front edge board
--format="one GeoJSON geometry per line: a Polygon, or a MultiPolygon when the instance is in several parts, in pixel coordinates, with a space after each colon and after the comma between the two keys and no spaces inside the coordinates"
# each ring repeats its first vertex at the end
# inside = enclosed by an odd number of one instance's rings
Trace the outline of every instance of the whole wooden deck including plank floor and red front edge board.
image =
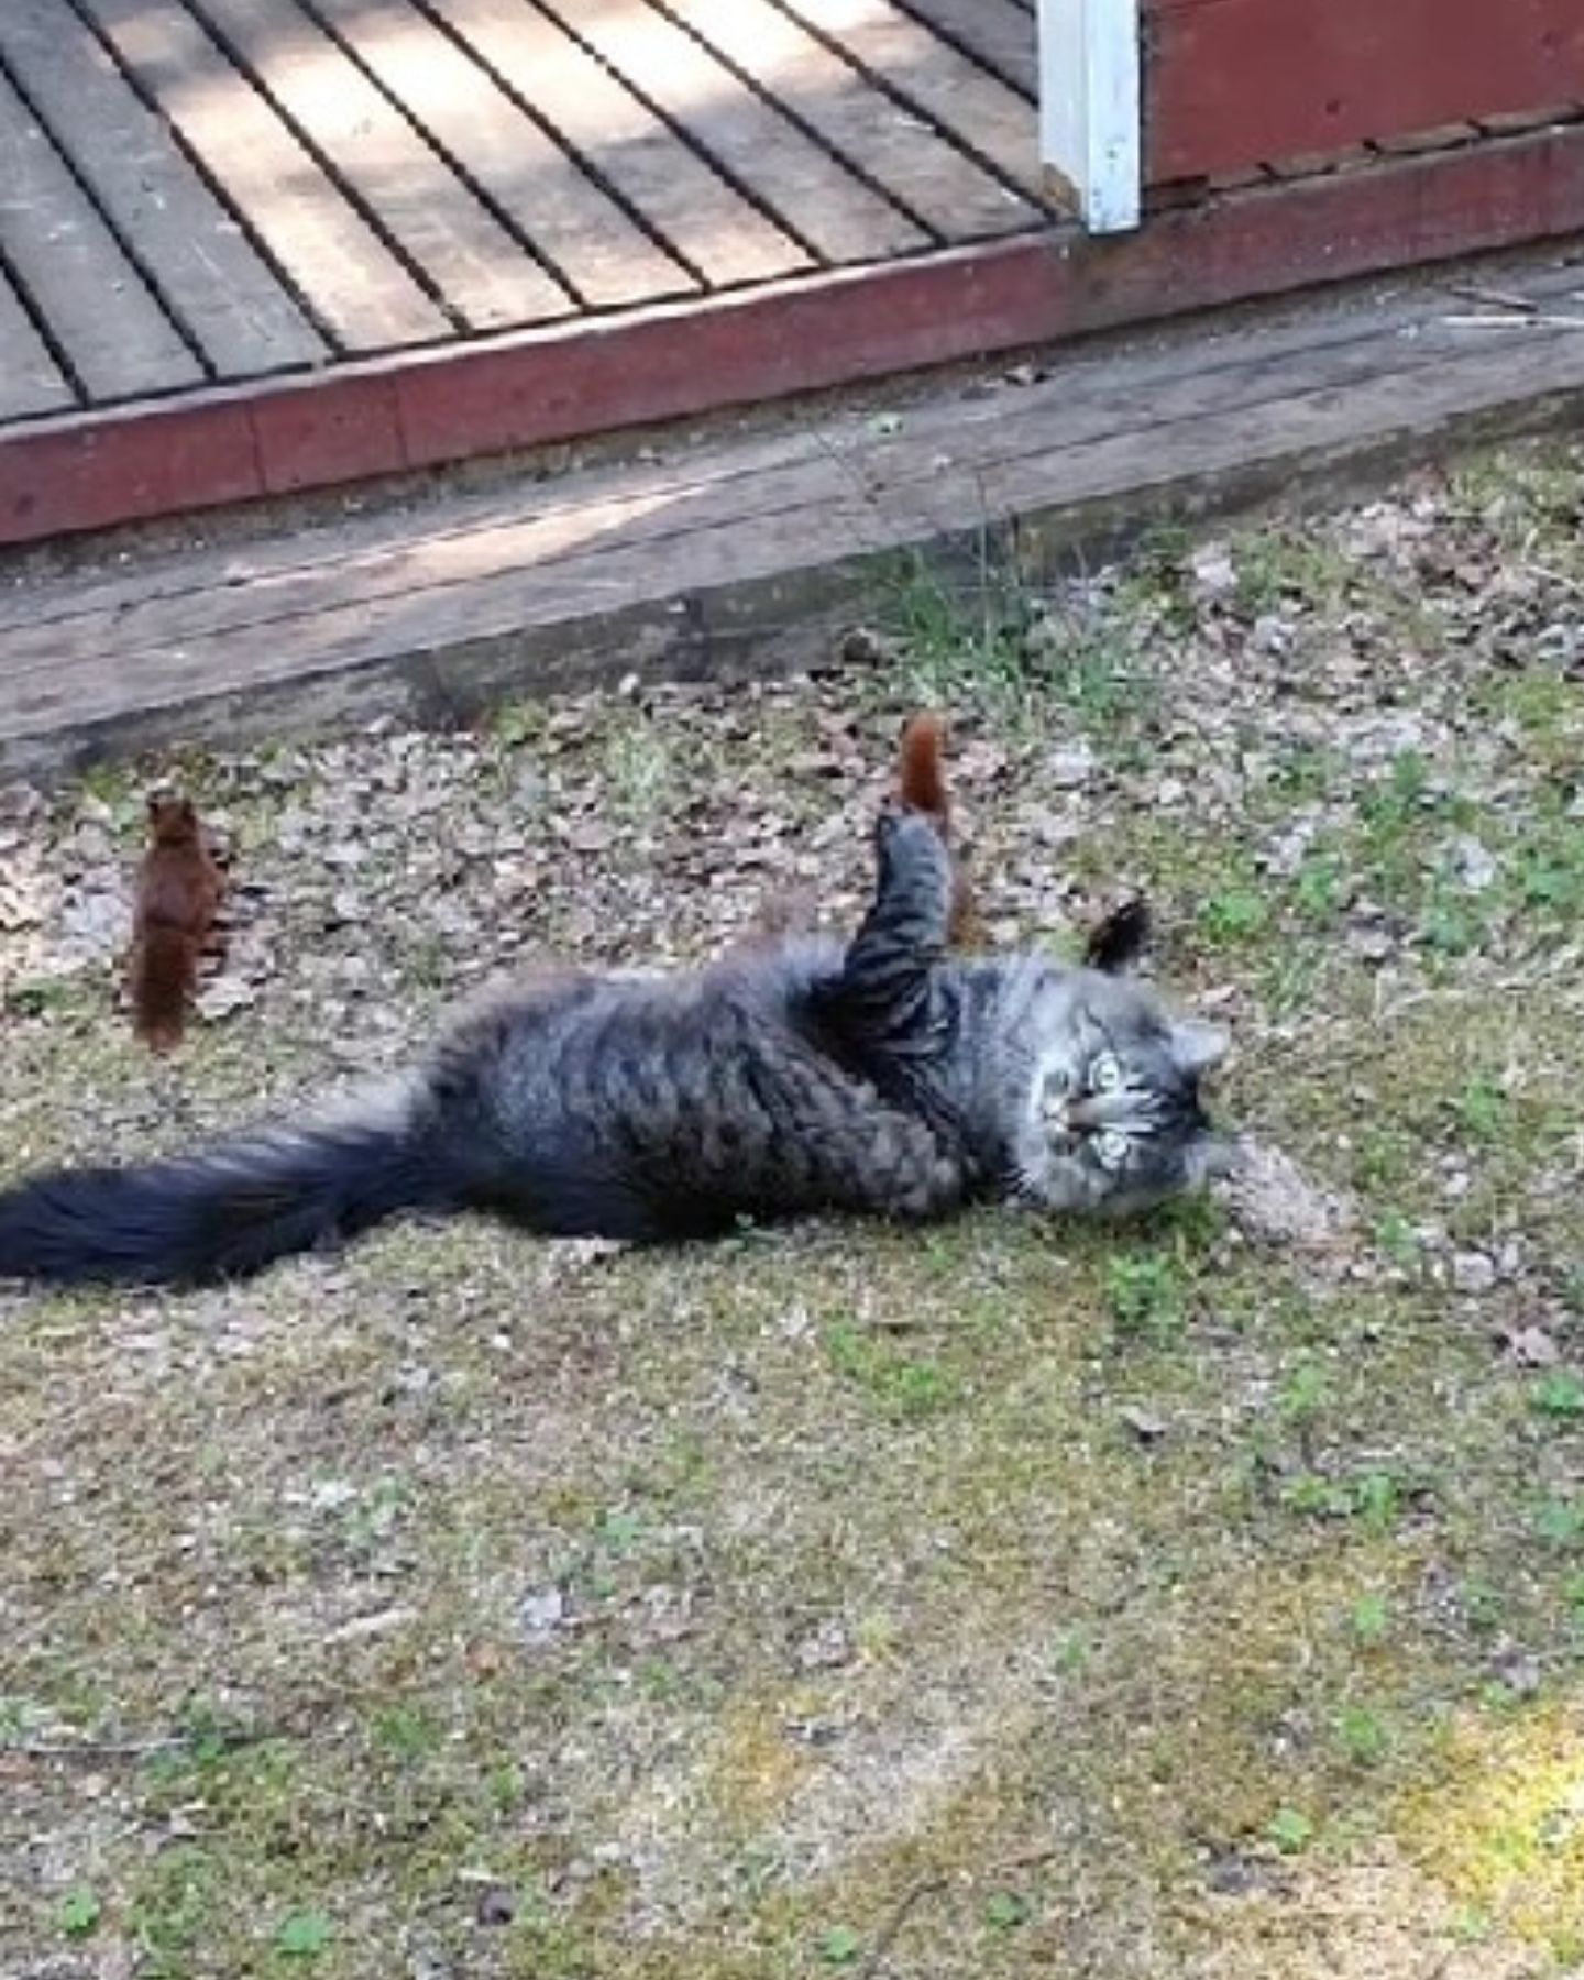
{"type": "Polygon", "coordinates": [[[1034,0],[0,0],[0,544],[1584,226],[1568,109],[1089,240],[1034,71],[1034,0]]]}

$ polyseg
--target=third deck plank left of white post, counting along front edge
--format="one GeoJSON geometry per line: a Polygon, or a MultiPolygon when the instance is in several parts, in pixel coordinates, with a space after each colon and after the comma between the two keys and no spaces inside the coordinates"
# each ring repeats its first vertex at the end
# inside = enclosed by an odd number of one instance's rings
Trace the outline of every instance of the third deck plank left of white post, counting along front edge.
{"type": "Polygon", "coordinates": [[[713,172],[560,22],[521,0],[426,0],[426,6],[533,103],[711,287],[770,281],[810,265],[788,234],[713,172]]]}

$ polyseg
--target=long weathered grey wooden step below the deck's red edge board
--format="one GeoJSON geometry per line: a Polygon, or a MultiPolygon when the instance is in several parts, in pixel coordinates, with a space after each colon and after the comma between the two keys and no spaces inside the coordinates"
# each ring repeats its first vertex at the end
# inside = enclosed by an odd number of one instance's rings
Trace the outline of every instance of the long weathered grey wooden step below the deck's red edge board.
{"type": "MultiPolygon", "coordinates": [[[[1572,283],[1556,265],[1503,275],[1534,297],[1572,283]]],[[[895,434],[834,418],[517,501],[26,590],[0,608],[0,770],[386,713],[455,719],[630,669],[808,663],[822,614],[853,610],[885,552],[1012,529],[1041,560],[1584,406],[1584,329],[1493,339],[1447,313],[1428,291],[1275,335],[1202,325],[1164,352],[929,400],[895,434]]]]}

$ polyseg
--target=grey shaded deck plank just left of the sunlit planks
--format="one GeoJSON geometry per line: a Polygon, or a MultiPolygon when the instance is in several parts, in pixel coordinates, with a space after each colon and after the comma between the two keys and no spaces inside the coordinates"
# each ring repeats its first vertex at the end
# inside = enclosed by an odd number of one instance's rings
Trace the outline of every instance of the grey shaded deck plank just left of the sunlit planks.
{"type": "MultiPolygon", "coordinates": [[[[156,32],[150,20],[148,32],[156,32]]],[[[93,194],[131,242],[216,378],[317,364],[325,341],[65,0],[6,0],[0,55],[93,194]]],[[[202,77],[198,77],[202,83],[202,77]]],[[[111,293],[87,315],[111,333],[111,293]]],[[[115,327],[125,307],[115,297],[115,327]]],[[[131,323],[131,319],[127,319],[131,323]]],[[[61,341],[75,329],[57,319],[61,341]]]]}

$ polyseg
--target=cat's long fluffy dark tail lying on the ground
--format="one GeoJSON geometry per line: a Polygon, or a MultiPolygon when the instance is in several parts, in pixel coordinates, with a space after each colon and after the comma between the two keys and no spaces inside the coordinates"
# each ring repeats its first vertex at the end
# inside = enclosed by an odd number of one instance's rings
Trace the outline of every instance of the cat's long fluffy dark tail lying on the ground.
{"type": "Polygon", "coordinates": [[[406,1099],[131,1168],[53,1170],[0,1192],[0,1279],[242,1279],[404,1210],[461,1208],[469,1172],[434,1115],[406,1099]]]}

